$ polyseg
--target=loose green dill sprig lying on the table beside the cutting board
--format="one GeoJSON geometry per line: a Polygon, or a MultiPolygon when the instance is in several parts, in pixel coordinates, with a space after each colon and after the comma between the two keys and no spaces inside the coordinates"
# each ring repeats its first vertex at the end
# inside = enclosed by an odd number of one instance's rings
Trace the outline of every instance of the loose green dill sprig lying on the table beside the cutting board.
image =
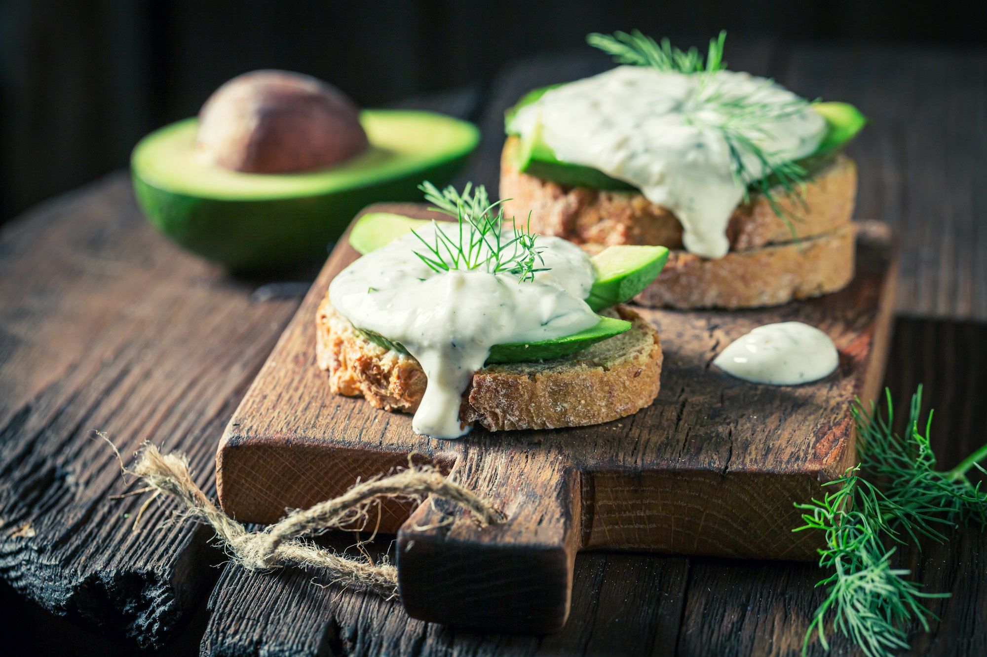
{"type": "Polygon", "coordinates": [[[967,477],[973,469],[983,472],[979,463],[987,459],[987,445],[954,469],[939,471],[929,441],[932,412],[920,424],[922,387],[912,397],[903,436],[892,429],[890,392],[886,395],[886,417],[873,404],[870,411],[859,402],[854,407],[860,464],[824,484],[835,490],[821,500],[796,504],[805,524],[794,531],[825,533],[819,565],[832,571],[817,584],[826,588],[826,598],[809,624],[803,653],[813,634],[829,648],[825,624],[830,616],[833,629],[869,657],[907,649],[910,621],[928,630],[935,618],[924,601],[949,594],[925,592],[908,579],[909,570],[894,567],[897,547],[917,544],[923,536],[946,541],[940,530],[959,520],[987,526],[987,491],[967,477]]]}

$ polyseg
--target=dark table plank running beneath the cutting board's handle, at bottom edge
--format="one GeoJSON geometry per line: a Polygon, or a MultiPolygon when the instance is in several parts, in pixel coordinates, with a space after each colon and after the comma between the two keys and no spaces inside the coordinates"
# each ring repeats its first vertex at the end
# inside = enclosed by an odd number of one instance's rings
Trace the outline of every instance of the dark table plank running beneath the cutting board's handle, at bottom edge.
{"type": "MultiPolygon", "coordinates": [[[[387,548],[386,542],[378,545],[387,548]]],[[[581,553],[569,622],[563,631],[539,637],[414,620],[398,601],[324,588],[318,576],[296,568],[271,573],[227,568],[209,602],[212,614],[201,647],[204,654],[229,656],[662,655],[675,644],[687,576],[682,557],[581,553]]]]}

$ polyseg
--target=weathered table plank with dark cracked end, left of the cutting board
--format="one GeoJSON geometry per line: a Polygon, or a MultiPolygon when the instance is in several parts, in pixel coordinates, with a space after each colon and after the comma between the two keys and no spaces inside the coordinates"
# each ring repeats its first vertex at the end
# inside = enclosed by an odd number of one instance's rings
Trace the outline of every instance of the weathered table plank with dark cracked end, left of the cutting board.
{"type": "Polygon", "coordinates": [[[212,489],[215,440],[294,300],[166,243],[117,175],[0,234],[0,576],[56,614],[159,645],[211,584],[205,535],[127,490],[143,441],[189,454],[212,489]]]}

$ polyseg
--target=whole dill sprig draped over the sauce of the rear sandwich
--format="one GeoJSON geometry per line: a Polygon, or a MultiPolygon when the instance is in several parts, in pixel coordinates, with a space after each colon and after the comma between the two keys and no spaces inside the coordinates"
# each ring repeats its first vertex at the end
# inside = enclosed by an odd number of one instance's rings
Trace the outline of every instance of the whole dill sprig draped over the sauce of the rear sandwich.
{"type": "Polygon", "coordinates": [[[806,110],[809,103],[802,99],[783,102],[766,99],[764,92],[774,85],[774,80],[766,80],[760,89],[747,94],[724,93],[715,74],[726,68],[723,61],[725,40],[726,31],[711,38],[704,59],[695,47],[682,50],[667,38],[659,43],[638,30],[632,30],[630,34],[594,33],[586,37],[590,45],[612,55],[618,63],[700,76],[687,119],[721,133],[729,152],[730,173],[734,182],[743,188],[744,201],[750,200],[751,191],[760,194],[797,238],[793,221],[800,218],[782,206],[776,187],[781,187],[783,197],[804,210],[802,183],[808,178],[808,172],[778,153],[765,151],[757,140],[767,136],[766,125],[806,110]]]}

